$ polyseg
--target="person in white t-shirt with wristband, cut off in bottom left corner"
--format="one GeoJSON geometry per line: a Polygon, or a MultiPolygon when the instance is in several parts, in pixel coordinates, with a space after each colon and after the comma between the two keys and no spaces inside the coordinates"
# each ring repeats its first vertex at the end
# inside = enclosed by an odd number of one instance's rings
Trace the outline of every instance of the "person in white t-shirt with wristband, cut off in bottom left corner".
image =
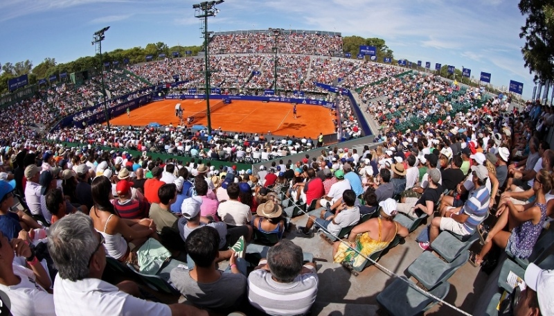
{"type": "Polygon", "coordinates": [[[48,292],[51,286],[48,273],[24,240],[10,241],[0,232],[0,292],[7,295],[9,301],[4,303],[12,315],[56,315],[54,297],[48,292]],[[25,258],[26,267],[14,263],[15,256],[25,258]]]}

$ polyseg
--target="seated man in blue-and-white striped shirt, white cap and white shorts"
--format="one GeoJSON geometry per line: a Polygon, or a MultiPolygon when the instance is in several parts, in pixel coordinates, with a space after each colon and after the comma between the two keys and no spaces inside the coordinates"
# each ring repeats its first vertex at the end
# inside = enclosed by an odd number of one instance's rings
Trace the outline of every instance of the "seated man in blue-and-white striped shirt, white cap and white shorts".
{"type": "Polygon", "coordinates": [[[463,207],[447,209],[442,216],[433,218],[429,228],[429,243],[438,237],[439,229],[452,231],[454,234],[465,236],[473,234],[477,225],[488,213],[490,193],[485,186],[488,178],[488,170],[485,166],[472,166],[474,177],[472,178],[475,190],[466,200],[463,207]]]}

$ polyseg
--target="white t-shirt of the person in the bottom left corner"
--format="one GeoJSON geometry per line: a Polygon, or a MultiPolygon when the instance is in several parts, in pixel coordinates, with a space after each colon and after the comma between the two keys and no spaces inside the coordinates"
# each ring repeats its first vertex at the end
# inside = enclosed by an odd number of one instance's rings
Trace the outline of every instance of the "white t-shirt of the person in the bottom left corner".
{"type": "MultiPolygon", "coordinates": [[[[12,315],[56,315],[54,296],[46,292],[35,281],[35,273],[15,263],[12,267],[14,274],[21,279],[21,282],[15,286],[0,284],[0,291],[6,293],[10,299],[8,308],[10,308],[12,315]]],[[[7,304],[6,301],[4,303],[7,304]]]]}

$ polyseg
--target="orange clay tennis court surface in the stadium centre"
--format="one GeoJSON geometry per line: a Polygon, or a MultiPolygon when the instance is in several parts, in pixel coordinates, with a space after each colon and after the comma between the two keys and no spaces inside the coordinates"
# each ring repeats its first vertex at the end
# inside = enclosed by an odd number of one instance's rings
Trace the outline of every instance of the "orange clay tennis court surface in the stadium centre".
{"type": "MultiPolygon", "coordinates": [[[[183,120],[188,116],[199,119],[193,125],[207,125],[206,100],[161,100],[144,105],[131,111],[131,117],[122,114],[110,120],[112,125],[144,126],[157,122],[161,125],[179,125],[179,118],[175,116],[175,105],[181,103],[183,120]]],[[[229,105],[222,105],[222,100],[210,100],[211,124],[213,129],[235,132],[265,134],[271,131],[275,135],[294,135],[296,137],[316,138],[320,132],[334,133],[333,117],[330,110],[318,105],[296,105],[296,117],[292,114],[292,104],[258,101],[233,100],[229,105]]]]}

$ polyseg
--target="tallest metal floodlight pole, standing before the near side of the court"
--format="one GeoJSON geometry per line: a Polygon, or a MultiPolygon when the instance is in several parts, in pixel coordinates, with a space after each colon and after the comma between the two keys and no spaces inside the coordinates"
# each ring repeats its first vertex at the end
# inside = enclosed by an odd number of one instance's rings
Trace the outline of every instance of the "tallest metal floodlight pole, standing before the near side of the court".
{"type": "Polygon", "coordinates": [[[215,17],[219,9],[216,9],[217,4],[223,3],[224,0],[218,1],[204,1],[201,3],[193,4],[193,9],[195,9],[195,17],[201,20],[200,30],[202,32],[202,37],[204,37],[204,76],[206,80],[206,117],[208,119],[208,135],[212,134],[212,123],[210,115],[210,80],[213,71],[210,69],[210,61],[208,60],[208,40],[210,39],[210,33],[208,32],[208,17],[215,17]]]}

